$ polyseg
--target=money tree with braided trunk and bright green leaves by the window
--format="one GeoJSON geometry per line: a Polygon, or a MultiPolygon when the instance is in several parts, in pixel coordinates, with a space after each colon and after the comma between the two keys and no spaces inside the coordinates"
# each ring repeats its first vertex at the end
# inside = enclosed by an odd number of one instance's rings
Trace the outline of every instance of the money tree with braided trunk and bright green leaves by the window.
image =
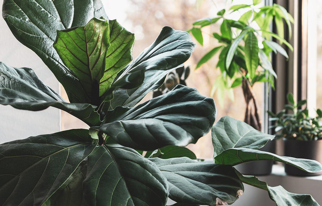
{"type": "Polygon", "coordinates": [[[232,88],[242,86],[246,102],[244,121],[259,131],[261,130],[260,108],[253,86],[257,82],[269,82],[274,88],[274,78],[277,76],[269,60],[270,53],[279,52],[286,58],[288,55],[283,47],[271,41],[271,37],[293,50],[284,39],[283,19],[288,26],[289,37],[291,23],[294,21],[282,6],[274,4],[259,7],[260,2],[260,0],[254,0],[249,5],[232,5],[227,11],[225,9],[218,11],[217,16],[213,18],[195,21],[193,27],[188,30],[203,45],[204,27],[221,23],[220,31],[214,31],[211,35],[220,45],[207,52],[197,63],[196,69],[220,52],[216,67],[220,69],[221,75],[217,77],[213,91],[216,89],[218,99],[223,99],[225,93],[232,93],[232,88]],[[230,16],[232,13],[241,14],[239,20],[233,20],[230,16]],[[262,16],[263,14],[265,17],[262,16]],[[270,32],[273,19],[277,26],[277,34],[270,32]]]}

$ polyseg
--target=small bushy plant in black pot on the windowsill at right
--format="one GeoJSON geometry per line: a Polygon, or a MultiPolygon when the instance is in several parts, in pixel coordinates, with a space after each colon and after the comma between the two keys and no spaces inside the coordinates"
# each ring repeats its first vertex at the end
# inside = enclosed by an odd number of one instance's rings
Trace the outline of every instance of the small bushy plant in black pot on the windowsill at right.
{"type": "MultiPolygon", "coordinates": [[[[274,114],[269,111],[270,120],[275,121],[277,138],[284,139],[285,156],[312,159],[322,162],[322,111],[317,109],[316,117],[309,117],[308,108],[303,107],[307,100],[295,102],[291,93],[287,96],[289,104],[274,114]]],[[[307,173],[285,164],[285,172],[295,176],[315,176],[320,173],[307,173]]]]}

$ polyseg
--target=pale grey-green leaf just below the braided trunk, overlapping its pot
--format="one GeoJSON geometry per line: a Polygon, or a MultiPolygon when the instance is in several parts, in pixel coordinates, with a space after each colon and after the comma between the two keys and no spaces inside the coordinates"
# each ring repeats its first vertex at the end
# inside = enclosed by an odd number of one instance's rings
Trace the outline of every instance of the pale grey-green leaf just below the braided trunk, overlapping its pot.
{"type": "Polygon", "coordinates": [[[243,121],[222,117],[211,129],[214,156],[230,148],[260,149],[275,136],[262,133],[243,121]]]}

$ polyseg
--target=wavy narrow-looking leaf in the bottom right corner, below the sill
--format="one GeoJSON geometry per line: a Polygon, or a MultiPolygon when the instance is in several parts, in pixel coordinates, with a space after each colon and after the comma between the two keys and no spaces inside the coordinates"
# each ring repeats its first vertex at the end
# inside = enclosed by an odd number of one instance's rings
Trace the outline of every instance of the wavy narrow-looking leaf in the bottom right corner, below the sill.
{"type": "Polygon", "coordinates": [[[255,176],[242,175],[236,171],[238,177],[243,183],[267,190],[270,199],[277,206],[320,206],[309,194],[296,194],[286,191],[282,186],[270,187],[266,182],[260,181],[255,176]]]}

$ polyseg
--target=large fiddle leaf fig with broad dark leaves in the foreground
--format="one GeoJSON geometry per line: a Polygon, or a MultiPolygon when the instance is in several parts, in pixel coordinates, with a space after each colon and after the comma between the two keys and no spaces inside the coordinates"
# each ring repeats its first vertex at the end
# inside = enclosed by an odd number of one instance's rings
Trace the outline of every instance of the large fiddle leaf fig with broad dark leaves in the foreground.
{"type": "MultiPolygon", "coordinates": [[[[242,194],[242,181],[254,181],[232,168],[238,162],[215,158],[219,164],[200,163],[190,152],[185,156],[192,159],[165,156],[211,129],[216,116],[213,99],[178,85],[135,106],[189,58],[194,43],[188,33],[163,28],[156,41],[128,64],[133,34],[108,20],[100,1],[6,0],[3,16],[16,38],[62,82],[71,103],[43,84],[33,70],[4,63],[0,63],[0,103],[33,111],[56,107],[90,129],[1,144],[1,205],[166,205],[168,197],[177,205],[223,205],[242,194]],[[162,153],[151,152],[152,158],[140,154],[159,148],[162,153]]],[[[256,149],[265,144],[267,137],[263,139],[242,146],[256,149]]],[[[248,154],[241,157],[253,160],[248,154]]],[[[322,170],[315,161],[280,159],[308,172],[322,170]]],[[[318,205],[308,195],[287,201],[299,200],[318,205]]]]}

